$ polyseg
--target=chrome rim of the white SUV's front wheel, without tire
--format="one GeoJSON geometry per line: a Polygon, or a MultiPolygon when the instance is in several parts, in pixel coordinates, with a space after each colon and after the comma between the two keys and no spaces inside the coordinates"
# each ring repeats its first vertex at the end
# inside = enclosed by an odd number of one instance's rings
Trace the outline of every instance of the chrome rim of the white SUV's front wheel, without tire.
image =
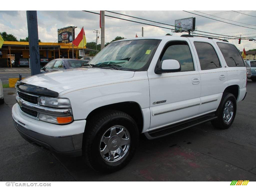
{"type": "Polygon", "coordinates": [[[124,126],[109,128],[101,137],[100,154],[108,162],[120,160],[129,150],[130,134],[124,126]]]}

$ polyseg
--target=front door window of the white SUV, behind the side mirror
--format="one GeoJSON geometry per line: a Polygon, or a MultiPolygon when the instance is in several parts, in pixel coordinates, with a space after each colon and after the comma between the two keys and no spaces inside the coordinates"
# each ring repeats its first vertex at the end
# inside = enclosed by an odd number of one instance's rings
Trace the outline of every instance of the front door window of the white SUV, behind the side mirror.
{"type": "Polygon", "coordinates": [[[181,71],[194,70],[191,52],[185,41],[169,42],[164,48],[164,54],[160,57],[161,63],[166,59],[175,59],[179,61],[181,71]]]}

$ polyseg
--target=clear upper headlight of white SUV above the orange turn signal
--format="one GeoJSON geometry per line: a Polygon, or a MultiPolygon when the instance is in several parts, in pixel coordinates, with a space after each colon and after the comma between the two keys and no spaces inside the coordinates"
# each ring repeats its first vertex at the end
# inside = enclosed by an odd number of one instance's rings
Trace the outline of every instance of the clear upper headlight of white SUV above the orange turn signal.
{"type": "Polygon", "coordinates": [[[40,96],[38,104],[53,108],[71,108],[70,101],[67,98],[52,98],[40,96]]]}

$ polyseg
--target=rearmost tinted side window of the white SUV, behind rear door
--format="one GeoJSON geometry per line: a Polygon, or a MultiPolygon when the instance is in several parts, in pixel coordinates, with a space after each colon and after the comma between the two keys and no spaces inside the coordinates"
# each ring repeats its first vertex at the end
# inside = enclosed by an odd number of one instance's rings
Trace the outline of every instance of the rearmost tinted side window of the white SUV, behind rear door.
{"type": "Polygon", "coordinates": [[[244,67],[243,59],[234,45],[220,42],[217,45],[229,67],[244,67]]]}

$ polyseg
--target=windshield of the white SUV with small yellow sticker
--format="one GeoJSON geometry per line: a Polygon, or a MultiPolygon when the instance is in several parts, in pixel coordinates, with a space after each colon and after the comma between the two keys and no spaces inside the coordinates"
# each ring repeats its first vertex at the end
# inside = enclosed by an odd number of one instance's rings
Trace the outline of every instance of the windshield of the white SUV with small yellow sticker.
{"type": "Polygon", "coordinates": [[[140,39],[113,42],[90,62],[95,67],[118,66],[121,70],[138,70],[146,66],[160,40],[140,39]]]}

